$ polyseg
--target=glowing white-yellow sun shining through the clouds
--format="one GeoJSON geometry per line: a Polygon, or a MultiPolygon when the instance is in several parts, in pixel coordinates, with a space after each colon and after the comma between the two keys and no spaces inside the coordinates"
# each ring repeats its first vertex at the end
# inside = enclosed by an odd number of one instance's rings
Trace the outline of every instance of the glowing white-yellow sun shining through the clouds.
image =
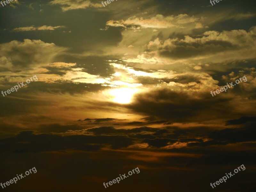
{"type": "Polygon", "coordinates": [[[109,89],[108,95],[112,101],[116,103],[130,103],[132,101],[132,97],[137,89],[134,88],[116,88],[116,89],[109,89]]]}

